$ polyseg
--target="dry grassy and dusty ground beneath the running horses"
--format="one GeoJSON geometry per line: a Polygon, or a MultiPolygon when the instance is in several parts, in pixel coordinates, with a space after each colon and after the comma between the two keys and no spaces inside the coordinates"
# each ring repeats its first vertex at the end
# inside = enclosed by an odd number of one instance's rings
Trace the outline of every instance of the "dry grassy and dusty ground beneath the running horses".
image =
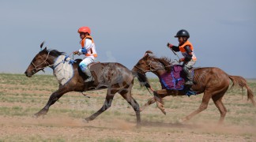
{"type": "MultiPolygon", "coordinates": [[[[153,88],[160,88],[150,79],[153,88]]],[[[256,80],[248,80],[256,94],[256,80]]],[[[112,106],[94,121],[84,118],[100,109],[106,90],[63,95],[47,116],[33,118],[47,103],[58,82],[51,75],[0,74],[0,142],[1,141],[256,141],[256,107],[247,101],[246,90],[229,90],[224,95],[228,109],[224,125],[217,125],[220,113],[210,101],[209,107],[185,124],[179,118],[196,110],[202,95],[169,96],[164,99],[167,115],[156,105],[141,112],[141,129],[136,129],[134,110],[120,95],[112,106]]],[[[152,95],[135,80],[134,99],[140,105],[152,95]]],[[[255,97],[254,97],[255,99],[255,97]]]]}

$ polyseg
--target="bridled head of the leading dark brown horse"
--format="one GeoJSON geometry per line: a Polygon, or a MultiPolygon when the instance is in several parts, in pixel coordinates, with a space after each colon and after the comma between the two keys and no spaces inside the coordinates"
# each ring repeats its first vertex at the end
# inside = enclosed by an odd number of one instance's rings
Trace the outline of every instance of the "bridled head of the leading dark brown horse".
{"type": "Polygon", "coordinates": [[[32,62],[28,65],[28,69],[24,72],[27,77],[32,77],[32,75],[43,70],[47,66],[51,67],[51,65],[54,64],[54,59],[59,55],[64,54],[64,52],[58,52],[58,50],[47,50],[47,47],[42,50],[43,43],[41,43],[40,47],[41,51],[36,54],[32,59],[32,62]]]}

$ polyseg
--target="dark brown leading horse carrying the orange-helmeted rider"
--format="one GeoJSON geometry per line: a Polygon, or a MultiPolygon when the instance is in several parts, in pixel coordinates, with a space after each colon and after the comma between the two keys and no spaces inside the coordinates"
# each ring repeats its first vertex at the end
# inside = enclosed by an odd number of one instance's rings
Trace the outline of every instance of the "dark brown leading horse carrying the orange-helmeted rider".
{"type": "MultiPolygon", "coordinates": [[[[42,47],[43,43],[41,44],[41,48],[42,47]]],[[[33,74],[43,70],[45,67],[55,69],[55,59],[62,54],[65,53],[59,52],[58,50],[47,50],[47,47],[45,47],[44,50],[41,50],[36,54],[35,58],[32,59],[32,62],[28,65],[28,69],[25,71],[25,75],[27,77],[32,77],[33,74]]],[[[134,77],[138,77],[138,79],[141,80],[139,78],[140,76],[137,76],[137,74],[134,74],[134,72],[127,69],[124,65],[116,62],[96,63],[90,67],[95,80],[85,83],[84,80],[86,77],[78,67],[79,62],[81,62],[81,59],[76,60],[76,62],[73,63],[73,77],[70,81],[66,84],[59,85],[58,90],[51,94],[46,106],[35,114],[36,118],[47,114],[49,107],[51,107],[51,105],[53,105],[66,92],[86,92],[107,88],[107,96],[103,107],[101,107],[95,114],[85,118],[85,121],[92,121],[98,115],[111,107],[114,95],[119,93],[134,108],[137,117],[137,125],[140,125],[140,107],[136,100],[131,96],[134,77]]]]}

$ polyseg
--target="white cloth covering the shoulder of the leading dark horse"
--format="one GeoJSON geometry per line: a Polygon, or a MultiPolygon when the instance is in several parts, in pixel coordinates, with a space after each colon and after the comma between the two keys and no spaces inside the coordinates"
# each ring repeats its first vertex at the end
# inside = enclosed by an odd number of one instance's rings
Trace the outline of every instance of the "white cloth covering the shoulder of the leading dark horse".
{"type": "Polygon", "coordinates": [[[65,61],[66,56],[60,55],[55,60],[53,73],[59,84],[66,84],[73,77],[73,65],[65,61]]]}

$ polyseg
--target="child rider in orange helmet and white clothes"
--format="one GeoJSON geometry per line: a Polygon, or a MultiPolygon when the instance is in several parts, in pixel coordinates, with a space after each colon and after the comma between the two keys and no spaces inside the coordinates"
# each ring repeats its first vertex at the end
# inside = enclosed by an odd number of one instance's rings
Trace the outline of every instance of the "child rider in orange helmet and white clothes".
{"type": "Polygon", "coordinates": [[[92,74],[88,69],[88,65],[95,61],[97,57],[95,43],[92,39],[91,29],[88,27],[81,27],[77,31],[80,34],[81,49],[73,51],[73,54],[85,54],[85,59],[80,62],[79,67],[83,73],[87,76],[85,82],[92,81],[92,74]]]}

